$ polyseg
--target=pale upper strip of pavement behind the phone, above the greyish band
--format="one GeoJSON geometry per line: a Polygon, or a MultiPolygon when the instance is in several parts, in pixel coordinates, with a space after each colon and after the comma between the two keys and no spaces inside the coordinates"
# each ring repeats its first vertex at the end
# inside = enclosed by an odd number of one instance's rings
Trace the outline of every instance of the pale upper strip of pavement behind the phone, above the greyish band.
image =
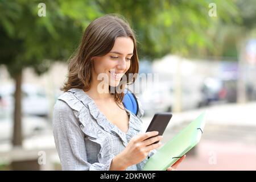
{"type": "MultiPolygon", "coordinates": [[[[207,111],[207,125],[222,126],[256,126],[256,102],[247,104],[223,104],[213,105],[202,109],[172,113],[172,119],[168,128],[180,125],[183,122],[191,122],[203,111],[207,111]]],[[[144,117],[143,129],[146,130],[154,114],[144,117]]]]}

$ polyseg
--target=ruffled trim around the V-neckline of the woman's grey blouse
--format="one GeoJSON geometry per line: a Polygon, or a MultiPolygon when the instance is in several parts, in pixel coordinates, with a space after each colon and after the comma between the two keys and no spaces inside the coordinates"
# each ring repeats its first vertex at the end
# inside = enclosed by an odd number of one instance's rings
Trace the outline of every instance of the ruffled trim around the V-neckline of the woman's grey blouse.
{"type": "MultiPolygon", "coordinates": [[[[64,94],[62,94],[58,99],[67,102],[69,107],[75,110],[74,113],[76,117],[79,118],[82,125],[86,127],[86,131],[91,131],[88,134],[90,135],[90,137],[98,139],[97,133],[99,133],[100,131],[97,131],[97,127],[95,127],[94,123],[92,123],[88,118],[89,115],[87,114],[88,111],[86,111],[86,109],[89,110],[90,115],[92,115],[92,117],[96,120],[98,126],[100,126],[103,130],[105,130],[110,134],[113,134],[113,135],[117,134],[118,137],[122,140],[124,146],[127,146],[127,143],[128,143],[127,141],[130,141],[132,137],[134,137],[141,131],[141,126],[142,126],[141,118],[138,118],[136,115],[131,113],[131,111],[125,109],[130,117],[129,117],[129,129],[127,133],[124,133],[116,125],[108,121],[105,115],[101,113],[101,111],[98,109],[97,105],[92,100],[92,98],[90,98],[81,89],[76,89],[76,88],[69,89],[68,92],[65,92],[64,94]]],[[[142,113],[142,110],[139,110],[139,111],[141,111],[142,113]]],[[[102,141],[98,141],[97,143],[102,143],[102,141]]]]}

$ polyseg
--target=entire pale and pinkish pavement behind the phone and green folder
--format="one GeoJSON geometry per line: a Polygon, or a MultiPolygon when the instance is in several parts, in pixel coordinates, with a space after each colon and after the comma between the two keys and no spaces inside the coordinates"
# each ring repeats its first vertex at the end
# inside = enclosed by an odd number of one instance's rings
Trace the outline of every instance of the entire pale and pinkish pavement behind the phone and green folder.
{"type": "MultiPolygon", "coordinates": [[[[163,135],[165,143],[189,122],[208,110],[207,123],[196,155],[188,154],[179,170],[256,170],[256,102],[217,105],[209,108],[172,113],[163,135]]],[[[151,121],[144,117],[143,131],[151,121]]]]}

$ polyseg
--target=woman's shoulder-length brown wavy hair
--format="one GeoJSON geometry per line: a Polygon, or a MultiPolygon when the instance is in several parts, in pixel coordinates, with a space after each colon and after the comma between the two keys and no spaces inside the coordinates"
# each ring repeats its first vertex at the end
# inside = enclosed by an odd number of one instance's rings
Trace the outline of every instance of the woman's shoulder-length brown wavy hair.
{"type": "MultiPolygon", "coordinates": [[[[93,20],[86,28],[80,46],[69,59],[68,79],[61,90],[67,92],[69,89],[78,88],[88,91],[92,81],[92,57],[104,56],[109,53],[114,46],[115,39],[118,37],[129,37],[134,43],[134,55],[131,57],[131,65],[125,73],[127,79],[121,78],[118,86],[123,91],[125,89],[123,84],[133,84],[139,71],[135,34],[129,23],[122,16],[109,14],[93,20]],[[129,73],[133,73],[131,81],[129,73]],[[123,83],[124,81],[126,83],[123,83]]],[[[110,89],[111,86],[109,86],[110,89]]],[[[111,94],[114,95],[114,100],[119,105],[123,100],[124,93],[114,92],[111,94]]]]}

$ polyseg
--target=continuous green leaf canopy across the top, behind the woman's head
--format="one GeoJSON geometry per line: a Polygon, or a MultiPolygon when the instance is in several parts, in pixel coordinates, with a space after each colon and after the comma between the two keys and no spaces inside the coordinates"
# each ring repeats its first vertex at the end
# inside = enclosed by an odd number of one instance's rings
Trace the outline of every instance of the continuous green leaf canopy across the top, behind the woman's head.
{"type": "Polygon", "coordinates": [[[123,15],[138,36],[139,56],[150,60],[167,53],[187,56],[201,49],[216,53],[216,27],[239,22],[231,0],[48,0],[45,17],[38,16],[40,2],[0,0],[0,64],[7,65],[11,75],[26,67],[40,74],[52,61],[67,60],[85,27],[104,14],[123,15]],[[208,15],[212,2],[217,17],[208,15]]]}

